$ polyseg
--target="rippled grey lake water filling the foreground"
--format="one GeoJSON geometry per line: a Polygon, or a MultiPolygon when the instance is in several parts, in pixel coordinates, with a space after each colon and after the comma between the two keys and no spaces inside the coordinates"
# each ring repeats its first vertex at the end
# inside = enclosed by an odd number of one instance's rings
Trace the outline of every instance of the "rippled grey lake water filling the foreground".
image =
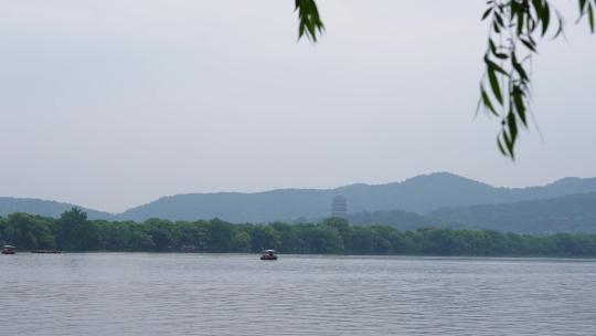
{"type": "Polygon", "coordinates": [[[596,261],[0,255],[0,335],[596,335],[596,261]]]}

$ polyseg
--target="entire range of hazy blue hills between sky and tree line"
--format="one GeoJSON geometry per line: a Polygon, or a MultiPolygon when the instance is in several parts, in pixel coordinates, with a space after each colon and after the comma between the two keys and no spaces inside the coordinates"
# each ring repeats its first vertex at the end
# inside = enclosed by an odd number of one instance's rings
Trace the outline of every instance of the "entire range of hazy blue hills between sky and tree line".
{"type": "MultiPolygon", "coordinates": [[[[332,198],[341,193],[348,199],[349,219],[353,223],[392,224],[401,229],[482,227],[520,231],[523,225],[532,227],[529,224],[532,219],[542,218],[551,229],[557,230],[560,227],[572,224],[568,221],[572,221],[573,216],[566,217],[566,223],[544,219],[545,216],[557,216],[549,211],[551,209],[557,209],[561,213],[566,213],[565,209],[573,209],[576,213],[575,220],[582,220],[582,223],[575,227],[584,229],[590,227],[589,221],[594,218],[592,214],[584,216],[582,211],[596,208],[594,198],[590,196],[562,198],[589,192],[596,192],[596,178],[564,178],[542,187],[496,188],[457,175],[436,172],[417,176],[403,182],[356,183],[327,190],[279,189],[254,193],[177,195],[160,198],[119,214],[85,210],[91,219],[107,220],[220,218],[237,223],[299,221],[328,217],[332,198]],[[528,211],[523,212],[524,209],[528,211]],[[540,210],[543,216],[531,209],[540,210]]],[[[72,207],[67,203],[36,199],[0,198],[1,216],[23,211],[57,217],[72,207]]]]}

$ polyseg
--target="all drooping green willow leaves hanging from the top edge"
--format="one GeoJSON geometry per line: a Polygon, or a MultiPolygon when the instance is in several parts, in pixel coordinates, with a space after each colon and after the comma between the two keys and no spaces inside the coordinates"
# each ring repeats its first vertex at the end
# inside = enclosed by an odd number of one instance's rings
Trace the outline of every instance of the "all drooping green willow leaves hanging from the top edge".
{"type": "MultiPolygon", "coordinates": [[[[596,0],[577,2],[577,22],[587,20],[594,33],[596,0]]],[[[299,38],[316,42],[324,30],[316,0],[296,0],[296,11],[299,38]]],[[[564,20],[552,0],[489,0],[482,20],[490,30],[478,107],[499,118],[502,127],[497,145],[504,156],[514,159],[519,129],[529,125],[532,56],[542,38],[550,33],[554,39],[561,36],[564,20]]]]}

